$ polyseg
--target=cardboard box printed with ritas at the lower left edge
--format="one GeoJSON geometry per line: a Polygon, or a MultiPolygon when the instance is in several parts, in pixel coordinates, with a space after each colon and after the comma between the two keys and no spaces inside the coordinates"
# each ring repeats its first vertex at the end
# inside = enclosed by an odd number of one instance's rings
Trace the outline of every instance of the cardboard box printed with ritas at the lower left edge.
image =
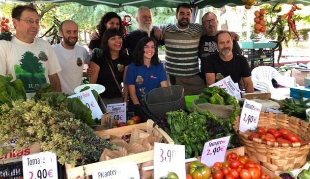
{"type": "MultiPolygon", "coordinates": [[[[14,138],[10,141],[10,146],[16,146],[16,141],[18,139],[14,138]]],[[[0,147],[8,147],[5,145],[1,145],[0,147]]],[[[31,154],[36,154],[38,152],[40,152],[40,144],[39,143],[34,143],[29,147],[23,148],[21,150],[16,150],[15,148],[13,148],[11,150],[10,153],[4,155],[4,156],[0,156],[0,164],[6,164],[6,163],[11,163],[11,162],[17,162],[17,161],[21,161],[23,156],[27,156],[27,155],[31,155],[31,154]]]]}

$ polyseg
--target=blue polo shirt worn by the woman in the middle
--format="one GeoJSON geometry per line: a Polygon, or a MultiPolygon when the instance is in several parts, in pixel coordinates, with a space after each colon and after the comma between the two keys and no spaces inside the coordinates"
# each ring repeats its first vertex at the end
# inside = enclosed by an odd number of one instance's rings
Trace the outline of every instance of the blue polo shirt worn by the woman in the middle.
{"type": "Polygon", "coordinates": [[[131,63],[128,66],[125,83],[127,85],[135,85],[135,93],[137,97],[142,98],[140,88],[145,87],[145,92],[148,93],[154,88],[160,87],[160,82],[167,81],[166,72],[163,64],[137,66],[131,63]]]}

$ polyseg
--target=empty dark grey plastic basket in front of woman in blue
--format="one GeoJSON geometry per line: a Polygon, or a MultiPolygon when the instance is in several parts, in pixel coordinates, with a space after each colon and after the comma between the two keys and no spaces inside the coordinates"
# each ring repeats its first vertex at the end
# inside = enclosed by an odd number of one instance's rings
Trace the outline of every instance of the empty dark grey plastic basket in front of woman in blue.
{"type": "Polygon", "coordinates": [[[149,91],[146,105],[157,118],[169,111],[185,110],[184,88],[180,85],[155,88],[149,91]]]}

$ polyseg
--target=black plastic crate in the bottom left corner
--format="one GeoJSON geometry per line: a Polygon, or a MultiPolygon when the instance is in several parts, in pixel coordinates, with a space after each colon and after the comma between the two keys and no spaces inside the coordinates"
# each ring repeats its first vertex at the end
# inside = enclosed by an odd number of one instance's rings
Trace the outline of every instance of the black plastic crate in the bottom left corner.
{"type": "Polygon", "coordinates": [[[22,161],[0,165],[0,178],[2,179],[18,179],[22,174],[22,161]]]}

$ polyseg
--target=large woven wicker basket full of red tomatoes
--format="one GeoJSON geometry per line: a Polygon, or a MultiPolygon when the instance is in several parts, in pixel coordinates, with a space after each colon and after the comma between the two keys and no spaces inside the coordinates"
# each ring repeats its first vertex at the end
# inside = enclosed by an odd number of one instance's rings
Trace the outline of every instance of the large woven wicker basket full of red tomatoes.
{"type": "Polygon", "coordinates": [[[260,162],[274,173],[280,173],[289,168],[300,168],[306,163],[310,149],[310,123],[286,114],[261,113],[258,126],[266,127],[266,129],[284,127],[297,134],[302,140],[295,143],[277,143],[266,142],[259,138],[253,139],[248,134],[240,132],[239,121],[238,117],[233,128],[251,160],[260,162]]]}

